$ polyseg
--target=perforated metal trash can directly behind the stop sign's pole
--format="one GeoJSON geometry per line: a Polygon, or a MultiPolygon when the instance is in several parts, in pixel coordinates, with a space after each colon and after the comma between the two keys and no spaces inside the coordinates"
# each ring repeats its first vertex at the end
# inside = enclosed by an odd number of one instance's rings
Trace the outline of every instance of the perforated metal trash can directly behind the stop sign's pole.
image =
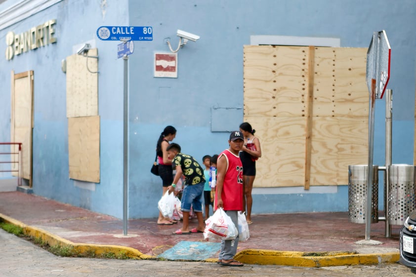
{"type": "MultiPolygon", "coordinates": [[[[351,223],[366,223],[368,165],[348,166],[348,216],[351,223]]],[[[371,223],[378,222],[378,166],[373,165],[371,223]]]]}

